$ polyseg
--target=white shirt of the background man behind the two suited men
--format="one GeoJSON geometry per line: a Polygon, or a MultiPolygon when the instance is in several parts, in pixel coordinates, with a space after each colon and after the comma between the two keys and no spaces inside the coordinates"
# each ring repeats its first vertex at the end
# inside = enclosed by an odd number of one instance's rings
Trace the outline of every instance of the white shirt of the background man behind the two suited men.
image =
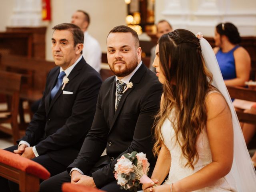
{"type": "Polygon", "coordinates": [[[96,39],[84,32],[84,48],[83,56],[86,62],[92,66],[97,72],[100,72],[101,64],[101,48],[96,39]]]}

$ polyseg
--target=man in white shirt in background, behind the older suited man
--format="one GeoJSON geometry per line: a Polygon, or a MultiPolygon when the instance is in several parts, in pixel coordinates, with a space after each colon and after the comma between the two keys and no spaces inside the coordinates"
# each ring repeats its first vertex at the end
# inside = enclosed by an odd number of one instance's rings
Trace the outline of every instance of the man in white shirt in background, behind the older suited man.
{"type": "Polygon", "coordinates": [[[90,24],[89,14],[82,10],[77,10],[72,15],[71,23],[80,27],[80,29],[84,32],[84,48],[82,53],[84,59],[97,72],[100,72],[102,52],[98,41],[90,36],[87,31],[90,24]]]}

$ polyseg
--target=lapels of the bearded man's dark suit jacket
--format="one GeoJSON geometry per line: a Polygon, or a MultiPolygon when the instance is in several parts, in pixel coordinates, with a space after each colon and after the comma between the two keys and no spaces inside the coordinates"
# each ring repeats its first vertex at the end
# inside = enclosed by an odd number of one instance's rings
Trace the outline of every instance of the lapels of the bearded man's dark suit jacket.
{"type": "MultiPolygon", "coordinates": [[[[118,117],[118,115],[120,114],[121,110],[122,110],[122,106],[124,105],[124,102],[126,100],[126,98],[128,97],[128,95],[132,92],[132,90],[136,89],[137,84],[140,82],[140,80],[142,79],[142,76],[144,75],[144,73],[146,72],[147,67],[142,63],[140,68],[138,68],[138,70],[135,72],[135,74],[132,76],[130,82],[133,83],[132,88],[129,88],[126,92],[124,92],[124,94],[121,97],[121,100],[118,104],[118,107],[116,109],[116,113],[114,114],[113,120],[110,124],[110,130],[112,129],[112,127],[115,124],[115,121],[118,117]]],[[[116,86],[116,84],[115,84],[116,86]]],[[[116,91],[116,87],[115,87],[115,91],[116,91]]],[[[114,105],[115,105],[115,92],[114,92],[114,105]]]]}

